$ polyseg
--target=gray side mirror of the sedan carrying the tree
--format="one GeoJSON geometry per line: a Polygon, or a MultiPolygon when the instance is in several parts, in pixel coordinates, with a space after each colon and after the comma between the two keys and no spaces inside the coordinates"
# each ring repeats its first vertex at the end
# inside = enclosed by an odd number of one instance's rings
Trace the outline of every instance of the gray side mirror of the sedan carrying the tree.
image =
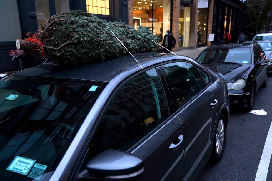
{"type": "Polygon", "coordinates": [[[139,180],[144,166],[142,159],[127,152],[106,150],[89,161],[86,169],[97,179],[139,180]]]}

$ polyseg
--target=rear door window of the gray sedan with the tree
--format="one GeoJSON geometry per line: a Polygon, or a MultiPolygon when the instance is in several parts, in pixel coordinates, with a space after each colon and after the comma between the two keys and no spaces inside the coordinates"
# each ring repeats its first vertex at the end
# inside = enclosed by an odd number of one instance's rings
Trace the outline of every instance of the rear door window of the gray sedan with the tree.
{"type": "Polygon", "coordinates": [[[172,86],[178,108],[203,90],[201,75],[191,63],[175,62],[161,67],[172,86]]]}

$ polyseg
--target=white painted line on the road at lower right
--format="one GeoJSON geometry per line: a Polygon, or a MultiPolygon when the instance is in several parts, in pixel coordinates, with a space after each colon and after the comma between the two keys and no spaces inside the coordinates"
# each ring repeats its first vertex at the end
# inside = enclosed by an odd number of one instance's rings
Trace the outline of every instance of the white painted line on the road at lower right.
{"type": "Polygon", "coordinates": [[[256,173],[255,181],[266,181],[271,154],[272,154],[272,122],[266,137],[266,143],[264,144],[263,154],[259,163],[258,171],[256,173]]]}

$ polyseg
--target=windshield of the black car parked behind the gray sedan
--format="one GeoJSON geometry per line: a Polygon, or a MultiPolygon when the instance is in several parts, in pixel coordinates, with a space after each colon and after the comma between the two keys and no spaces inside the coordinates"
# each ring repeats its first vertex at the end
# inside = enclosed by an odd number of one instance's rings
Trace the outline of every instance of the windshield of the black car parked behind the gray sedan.
{"type": "Polygon", "coordinates": [[[200,63],[250,64],[250,48],[211,48],[197,58],[200,63]]]}

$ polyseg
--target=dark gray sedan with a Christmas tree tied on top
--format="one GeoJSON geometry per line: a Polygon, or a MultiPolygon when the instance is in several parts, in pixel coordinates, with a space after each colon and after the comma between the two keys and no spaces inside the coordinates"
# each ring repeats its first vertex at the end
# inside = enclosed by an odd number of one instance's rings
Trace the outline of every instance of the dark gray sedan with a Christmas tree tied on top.
{"type": "Polygon", "coordinates": [[[43,64],[0,81],[0,180],[194,180],[223,156],[226,80],[185,56],[43,64]]]}

